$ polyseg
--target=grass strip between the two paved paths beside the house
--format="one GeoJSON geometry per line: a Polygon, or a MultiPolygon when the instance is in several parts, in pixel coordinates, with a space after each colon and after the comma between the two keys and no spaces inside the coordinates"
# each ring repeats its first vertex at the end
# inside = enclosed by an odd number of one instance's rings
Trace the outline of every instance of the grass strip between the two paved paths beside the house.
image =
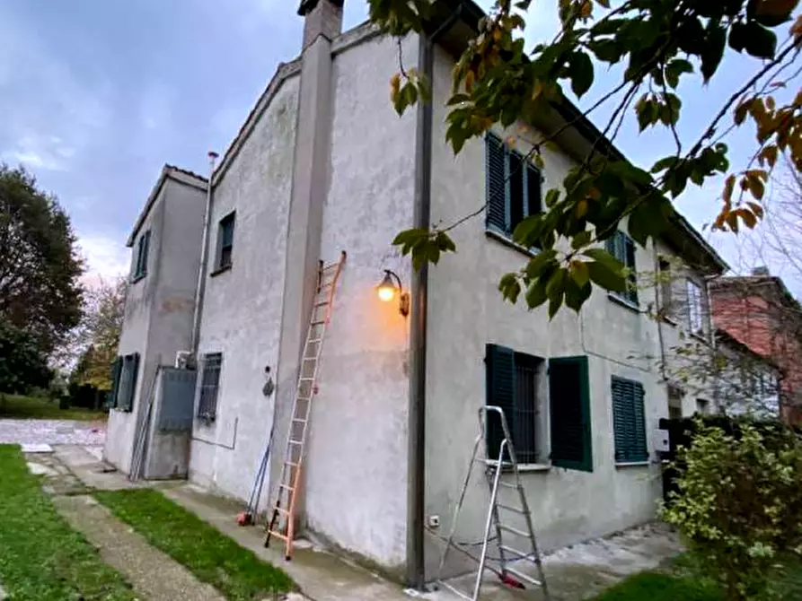
{"type": "Polygon", "coordinates": [[[150,489],[97,491],[95,498],[145,539],[228,599],[263,599],[294,590],[283,571],[261,562],[248,549],[194,513],[150,489]]]}

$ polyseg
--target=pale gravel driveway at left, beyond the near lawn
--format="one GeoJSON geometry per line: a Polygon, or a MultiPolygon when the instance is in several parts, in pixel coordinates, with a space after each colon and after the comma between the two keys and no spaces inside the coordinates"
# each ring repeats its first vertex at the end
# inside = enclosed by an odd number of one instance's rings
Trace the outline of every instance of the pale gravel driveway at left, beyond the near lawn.
{"type": "Polygon", "coordinates": [[[105,422],[75,420],[0,420],[0,444],[102,446],[105,422]]]}

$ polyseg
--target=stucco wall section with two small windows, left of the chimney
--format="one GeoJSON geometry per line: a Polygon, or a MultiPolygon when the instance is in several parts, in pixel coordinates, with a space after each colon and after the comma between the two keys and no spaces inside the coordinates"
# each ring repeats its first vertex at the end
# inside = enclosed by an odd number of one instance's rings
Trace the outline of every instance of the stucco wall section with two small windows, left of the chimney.
{"type": "MultiPolygon", "coordinates": [[[[223,353],[223,364],[216,421],[195,422],[189,477],[240,499],[250,495],[273,414],[262,386],[265,366],[275,374],[278,362],[298,79],[278,87],[214,189],[208,272],[218,223],[236,211],[233,265],[207,277],[198,352],[223,353]]],[[[263,490],[264,500],[269,483],[263,490]]]]}

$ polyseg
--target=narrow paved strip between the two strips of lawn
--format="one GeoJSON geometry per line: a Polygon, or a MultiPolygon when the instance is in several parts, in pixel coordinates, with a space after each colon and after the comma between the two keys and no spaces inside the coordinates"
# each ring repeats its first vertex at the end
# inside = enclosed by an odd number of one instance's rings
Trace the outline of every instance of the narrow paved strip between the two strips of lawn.
{"type": "Polygon", "coordinates": [[[92,497],[54,497],[53,502],[70,525],[98,548],[101,559],[128,579],[137,596],[149,601],[225,601],[216,588],[152,547],[92,497]]]}

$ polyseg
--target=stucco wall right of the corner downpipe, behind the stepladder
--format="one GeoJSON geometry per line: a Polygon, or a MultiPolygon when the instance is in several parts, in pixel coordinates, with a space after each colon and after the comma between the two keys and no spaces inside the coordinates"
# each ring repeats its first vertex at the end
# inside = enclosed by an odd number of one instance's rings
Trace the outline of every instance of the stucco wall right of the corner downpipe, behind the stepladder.
{"type": "MultiPolygon", "coordinates": [[[[454,158],[445,144],[443,105],[453,61],[440,48],[435,56],[432,222],[447,224],[485,202],[485,150],[482,140],[473,140],[454,158]]],[[[518,148],[528,150],[523,140],[518,148]]],[[[545,151],[544,160],[545,190],[562,181],[571,161],[551,150],[545,151]]],[[[651,450],[652,431],[667,413],[665,387],[653,369],[658,351],[653,320],[598,290],[581,318],[562,309],[550,322],[545,306],[531,312],[523,300],[511,306],[498,292],[498,279],[528,257],[489,237],[484,215],[453,234],[457,253],[429,270],[427,515],[438,515],[441,531],[449,531],[478,432],[477,410],[485,403],[485,344],[496,343],[543,358],[588,357],[593,472],[551,468],[524,475],[542,546],[572,544],[651,518],[660,492],[657,466],[615,466],[610,379],[617,375],[644,386],[651,450]]],[[[651,249],[638,248],[636,262],[638,268],[652,265],[651,249]]],[[[648,307],[654,290],[640,291],[639,301],[641,308],[648,307]]],[[[480,538],[486,503],[486,486],[477,478],[461,518],[460,539],[480,538]]],[[[430,545],[428,565],[436,559],[436,545],[430,545]]]]}

